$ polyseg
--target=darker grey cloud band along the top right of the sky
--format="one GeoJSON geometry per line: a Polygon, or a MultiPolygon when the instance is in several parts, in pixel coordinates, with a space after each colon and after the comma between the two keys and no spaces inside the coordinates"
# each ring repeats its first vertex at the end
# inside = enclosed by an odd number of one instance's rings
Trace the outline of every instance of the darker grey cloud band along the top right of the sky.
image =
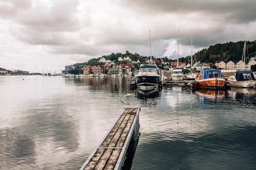
{"type": "Polygon", "coordinates": [[[256,1],[201,1],[195,0],[188,2],[185,0],[126,0],[122,1],[125,5],[133,7],[139,7],[144,9],[148,13],[191,13],[202,12],[207,15],[220,15],[226,17],[229,22],[235,21],[238,23],[244,23],[254,21],[256,18],[256,1]],[[231,20],[230,20],[231,19],[231,20]]]}

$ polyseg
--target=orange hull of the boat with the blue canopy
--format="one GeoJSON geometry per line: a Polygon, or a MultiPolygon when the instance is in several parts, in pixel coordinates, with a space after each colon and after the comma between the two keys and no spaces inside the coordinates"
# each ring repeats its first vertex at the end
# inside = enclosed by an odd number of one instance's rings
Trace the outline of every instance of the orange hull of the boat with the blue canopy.
{"type": "Polygon", "coordinates": [[[224,88],[225,85],[225,79],[222,78],[196,79],[196,82],[205,88],[224,88]]]}

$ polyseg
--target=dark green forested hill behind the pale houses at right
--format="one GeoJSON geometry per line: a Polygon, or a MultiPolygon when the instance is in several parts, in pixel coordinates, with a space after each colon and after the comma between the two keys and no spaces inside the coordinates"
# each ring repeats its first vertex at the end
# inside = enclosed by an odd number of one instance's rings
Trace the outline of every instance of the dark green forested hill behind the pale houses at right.
{"type": "MultiPolygon", "coordinates": [[[[238,62],[242,59],[244,41],[238,42],[226,42],[223,44],[215,44],[209,46],[209,48],[204,48],[203,50],[197,52],[196,60],[201,62],[212,62],[215,63],[216,61],[233,61],[238,62]]],[[[249,54],[249,58],[256,56],[256,40],[254,41],[247,41],[246,46],[246,56],[247,50],[249,54]]],[[[189,57],[188,57],[189,58],[189,57]]]]}

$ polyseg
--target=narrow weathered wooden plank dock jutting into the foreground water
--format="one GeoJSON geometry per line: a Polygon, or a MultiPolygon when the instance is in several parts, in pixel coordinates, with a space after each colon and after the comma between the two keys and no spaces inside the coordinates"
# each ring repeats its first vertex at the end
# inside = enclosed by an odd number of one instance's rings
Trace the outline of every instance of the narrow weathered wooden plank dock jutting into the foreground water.
{"type": "Polygon", "coordinates": [[[124,108],[113,128],[80,170],[121,169],[130,142],[138,137],[139,111],[140,108],[124,108]]]}

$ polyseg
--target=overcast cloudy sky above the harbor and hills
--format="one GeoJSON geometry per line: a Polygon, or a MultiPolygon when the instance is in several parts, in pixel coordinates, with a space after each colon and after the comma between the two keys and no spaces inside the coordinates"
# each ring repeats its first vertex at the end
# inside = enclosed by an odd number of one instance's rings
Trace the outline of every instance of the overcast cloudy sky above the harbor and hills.
{"type": "Polygon", "coordinates": [[[111,53],[172,59],[256,39],[255,0],[0,0],[0,67],[59,72],[111,53]]]}

